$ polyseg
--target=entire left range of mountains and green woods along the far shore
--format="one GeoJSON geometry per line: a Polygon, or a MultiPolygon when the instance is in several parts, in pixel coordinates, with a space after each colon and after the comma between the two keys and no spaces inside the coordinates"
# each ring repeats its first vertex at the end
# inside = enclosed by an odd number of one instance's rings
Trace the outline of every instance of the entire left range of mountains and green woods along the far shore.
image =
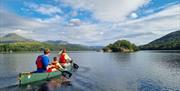
{"type": "Polygon", "coordinates": [[[69,51],[93,50],[93,48],[88,46],[70,44],[61,40],[39,42],[24,38],[15,33],[10,33],[0,38],[0,52],[40,51],[41,48],[49,48],[51,51],[59,51],[62,48],[66,48],[69,51]]]}

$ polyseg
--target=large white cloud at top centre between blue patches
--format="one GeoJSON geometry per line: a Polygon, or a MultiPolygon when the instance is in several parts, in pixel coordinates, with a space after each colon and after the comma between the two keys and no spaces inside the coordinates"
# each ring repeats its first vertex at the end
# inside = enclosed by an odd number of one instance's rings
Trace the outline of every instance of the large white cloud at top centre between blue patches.
{"type": "Polygon", "coordinates": [[[75,9],[89,10],[94,17],[105,22],[119,22],[150,0],[64,0],[75,9]]]}

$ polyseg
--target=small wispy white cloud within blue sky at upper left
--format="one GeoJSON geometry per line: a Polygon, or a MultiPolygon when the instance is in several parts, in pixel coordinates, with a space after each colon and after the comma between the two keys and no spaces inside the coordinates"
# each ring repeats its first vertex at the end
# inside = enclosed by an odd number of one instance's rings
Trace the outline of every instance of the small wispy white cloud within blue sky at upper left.
{"type": "Polygon", "coordinates": [[[41,13],[44,15],[53,15],[63,13],[59,7],[52,6],[49,4],[35,4],[35,3],[26,3],[30,11],[41,13]]]}

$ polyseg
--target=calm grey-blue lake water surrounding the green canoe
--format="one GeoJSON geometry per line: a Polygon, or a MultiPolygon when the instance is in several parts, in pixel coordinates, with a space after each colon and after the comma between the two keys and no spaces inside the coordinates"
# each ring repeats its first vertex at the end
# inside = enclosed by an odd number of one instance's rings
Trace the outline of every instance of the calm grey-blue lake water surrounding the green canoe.
{"type": "MultiPolygon", "coordinates": [[[[18,86],[18,73],[35,70],[39,54],[0,54],[0,90],[180,91],[180,51],[70,52],[80,66],[70,84],[54,78],[18,86]]],[[[50,58],[56,55],[52,53],[50,58]]]]}

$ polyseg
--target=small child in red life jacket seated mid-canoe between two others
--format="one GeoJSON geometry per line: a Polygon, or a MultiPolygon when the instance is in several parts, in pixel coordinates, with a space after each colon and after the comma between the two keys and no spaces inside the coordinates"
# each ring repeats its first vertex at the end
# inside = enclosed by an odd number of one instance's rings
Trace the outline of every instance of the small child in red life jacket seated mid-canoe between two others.
{"type": "Polygon", "coordinates": [[[48,66],[47,72],[57,71],[57,69],[62,70],[63,67],[58,62],[57,57],[54,57],[51,64],[48,66]]]}

